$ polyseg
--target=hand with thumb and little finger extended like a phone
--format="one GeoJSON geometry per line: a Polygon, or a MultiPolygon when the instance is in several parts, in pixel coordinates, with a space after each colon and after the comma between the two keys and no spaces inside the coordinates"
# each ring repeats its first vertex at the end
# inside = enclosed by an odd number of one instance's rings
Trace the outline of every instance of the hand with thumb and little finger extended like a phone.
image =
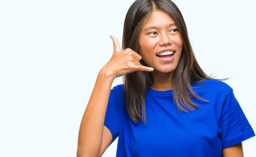
{"type": "Polygon", "coordinates": [[[137,70],[154,70],[151,67],[141,65],[139,61],[142,57],[138,53],[134,52],[134,50],[127,48],[121,51],[118,39],[112,35],[110,35],[110,37],[113,40],[113,55],[108,63],[102,68],[108,76],[114,79],[137,70]]]}

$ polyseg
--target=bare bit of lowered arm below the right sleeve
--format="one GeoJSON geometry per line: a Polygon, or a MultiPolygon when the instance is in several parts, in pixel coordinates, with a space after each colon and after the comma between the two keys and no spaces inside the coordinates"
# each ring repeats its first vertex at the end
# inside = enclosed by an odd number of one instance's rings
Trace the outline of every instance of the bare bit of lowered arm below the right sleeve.
{"type": "Polygon", "coordinates": [[[222,157],[244,157],[242,143],[222,149],[222,157]]]}

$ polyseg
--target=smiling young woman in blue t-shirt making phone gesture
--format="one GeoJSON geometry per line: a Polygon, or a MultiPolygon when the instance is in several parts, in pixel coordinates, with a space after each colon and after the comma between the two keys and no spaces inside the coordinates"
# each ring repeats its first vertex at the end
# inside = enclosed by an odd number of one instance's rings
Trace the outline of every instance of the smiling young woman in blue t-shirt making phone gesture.
{"type": "Polygon", "coordinates": [[[78,157],[242,157],[255,136],[233,89],[195,59],[182,14],[171,0],[136,0],[122,50],[99,71],[81,121],[78,157]],[[124,84],[111,89],[114,78],[124,84]]]}

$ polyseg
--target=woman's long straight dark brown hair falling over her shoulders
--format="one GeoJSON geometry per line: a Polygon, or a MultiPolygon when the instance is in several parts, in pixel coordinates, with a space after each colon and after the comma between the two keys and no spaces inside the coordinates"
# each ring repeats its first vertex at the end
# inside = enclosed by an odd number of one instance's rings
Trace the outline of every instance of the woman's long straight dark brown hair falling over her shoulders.
{"type": "MultiPolygon", "coordinates": [[[[148,19],[154,10],[164,11],[172,17],[177,25],[183,42],[180,61],[173,71],[173,100],[177,105],[179,112],[195,111],[199,106],[193,104],[190,98],[209,101],[198,96],[192,90],[191,85],[215,77],[211,77],[212,75],[207,76],[199,66],[189,42],[189,36],[183,16],[175,3],[171,0],[136,0],[129,8],[125,17],[122,50],[131,48],[140,54],[139,35],[142,30],[143,22],[148,19]]],[[[147,66],[145,62],[143,62],[143,59],[140,63],[147,66]]],[[[152,85],[152,73],[136,71],[124,75],[123,79],[125,107],[131,120],[134,121],[134,123],[137,123],[141,119],[146,123],[145,93],[152,85]]],[[[218,80],[227,79],[228,78],[218,80]]]]}

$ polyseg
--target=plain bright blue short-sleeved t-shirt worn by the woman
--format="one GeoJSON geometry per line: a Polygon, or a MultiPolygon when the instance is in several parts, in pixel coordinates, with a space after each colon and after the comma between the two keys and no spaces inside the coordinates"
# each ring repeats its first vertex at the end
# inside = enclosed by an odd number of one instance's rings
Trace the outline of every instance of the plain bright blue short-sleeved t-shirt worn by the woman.
{"type": "Polygon", "coordinates": [[[104,125],[112,143],[118,137],[116,157],[221,157],[222,149],[255,136],[229,85],[211,79],[192,87],[210,102],[193,98],[200,108],[188,113],[178,112],[173,90],[149,88],[146,124],[129,117],[123,84],[113,87],[104,125]]]}

